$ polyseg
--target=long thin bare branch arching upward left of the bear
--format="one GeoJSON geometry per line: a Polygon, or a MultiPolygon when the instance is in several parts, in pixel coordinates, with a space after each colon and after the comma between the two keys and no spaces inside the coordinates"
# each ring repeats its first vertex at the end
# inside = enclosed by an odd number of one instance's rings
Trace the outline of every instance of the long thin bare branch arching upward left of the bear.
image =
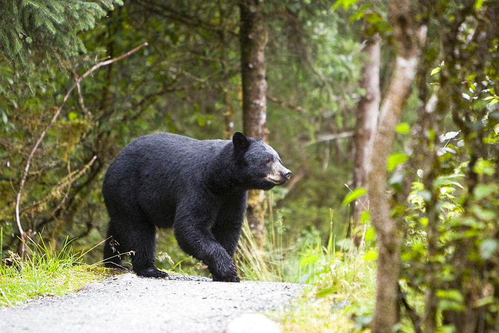
{"type": "Polygon", "coordinates": [[[27,252],[26,245],[25,245],[25,242],[26,242],[27,239],[26,239],[26,233],[24,232],[24,230],[22,230],[22,226],[21,226],[21,219],[19,217],[19,204],[20,204],[20,201],[21,201],[21,194],[22,194],[22,190],[24,188],[24,183],[26,182],[26,178],[27,178],[27,175],[28,175],[29,167],[31,166],[31,160],[33,159],[34,153],[38,149],[38,146],[40,145],[41,141],[43,140],[43,138],[47,134],[47,132],[50,129],[50,127],[52,127],[52,125],[55,123],[57,117],[59,117],[59,114],[61,113],[62,108],[64,107],[64,104],[66,104],[66,101],[69,98],[69,95],[71,94],[71,92],[74,90],[74,88],[76,88],[80,84],[80,82],[84,78],[86,78],[88,75],[90,75],[96,69],[98,69],[98,68],[100,68],[102,66],[109,65],[109,64],[111,64],[113,62],[119,61],[119,60],[121,60],[121,59],[129,56],[130,54],[135,53],[136,51],[138,51],[139,49],[141,49],[144,46],[147,46],[147,43],[139,45],[136,48],[134,48],[133,50],[128,51],[128,52],[120,55],[119,57],[99,62],[98,64],[95,64],[92,68],[90,68],[88,71],[86,71],[82,76],[78,77],[76,79],[76,81],[68,89],[68,91],[66,92],[66,95],[64,96],[64,98],[63,98],[62,103],[60,104],[60,106],[55,111],[55,114],[52,117],[52,120],[47,124],[47,126],[45,127],[45,129],[41,133],[40,137],[36,141],[33,149],[31,150],[31,153],[29,153],[28,159],[26,161],[26,166],[24,167],[24,173],[22,174],[22,178],[21,178],[21,181],[19,183],[19,190],[17,191],[17,197],[15,199],[15,221],[17,223],[17,229],[19,230],[19,234],[20,234],[19,238],[20,238],[20,244],[21,244],[19,246],[19,253],[18,254],[21,257],[23,257],[24,253],[27,252]]]}

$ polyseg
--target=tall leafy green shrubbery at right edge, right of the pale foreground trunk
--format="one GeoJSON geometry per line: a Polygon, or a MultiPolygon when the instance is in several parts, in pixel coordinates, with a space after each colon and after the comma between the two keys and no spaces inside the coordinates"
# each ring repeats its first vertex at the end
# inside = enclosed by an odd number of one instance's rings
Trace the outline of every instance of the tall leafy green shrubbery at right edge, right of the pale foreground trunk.
{"type": "MultiPolygon", "coordinates": [[[[497,82],[495,75],[482,84],[497,82]]],[[[411,209],[404,215],[402,274],[408,288],[421,297],[433,293],[435,301],[427,296],[425,307],[435,307],[435,321],[443,317],[459,330],[475,327],[477,321],[497,328],[499,127],[490,118],[495,104],[480,102],[490,97],[490,90],[478,93],[475,82],[454,87],[462,89],[456,103],[474,102],[462,110],[467,123],[454,116],[459,131],[435,138],[440,147],[430,146],[436,156],[433,170],[418,171],[421,181],[413,182],[411,209]],[[465,314],[469,317],[463,322],[465,314]]]]}

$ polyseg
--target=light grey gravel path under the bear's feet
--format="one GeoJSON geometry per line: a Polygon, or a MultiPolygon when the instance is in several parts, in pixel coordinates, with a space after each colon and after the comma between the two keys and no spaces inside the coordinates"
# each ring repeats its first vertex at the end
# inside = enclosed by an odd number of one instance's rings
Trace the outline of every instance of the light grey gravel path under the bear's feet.
{"type": "MultiPolygon", "coordinates": [[[[0,332],[224,332],[242,315],[282,309],[302,289],[291,283],[212,282],[176,274],[151,279],[127,273],[74,294],[0,310],[0,332]]],[[[251,325],[231,332],[252,332],[251,325]]]]}

